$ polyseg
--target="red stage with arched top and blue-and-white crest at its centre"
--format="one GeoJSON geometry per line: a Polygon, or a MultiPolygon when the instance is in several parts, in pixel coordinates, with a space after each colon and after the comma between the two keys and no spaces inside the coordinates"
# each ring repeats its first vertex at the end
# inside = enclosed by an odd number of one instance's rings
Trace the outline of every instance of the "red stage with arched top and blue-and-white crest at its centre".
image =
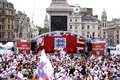
{"type": "Polygon", "coordinates": [[[37,52],[45,49],[46,53],[64,50],[67,53],[84,53],[85,38],[77,38],[75,34],[67,31],[53,31],[42,34],[34,40],[37,42],[37,52]]]}

